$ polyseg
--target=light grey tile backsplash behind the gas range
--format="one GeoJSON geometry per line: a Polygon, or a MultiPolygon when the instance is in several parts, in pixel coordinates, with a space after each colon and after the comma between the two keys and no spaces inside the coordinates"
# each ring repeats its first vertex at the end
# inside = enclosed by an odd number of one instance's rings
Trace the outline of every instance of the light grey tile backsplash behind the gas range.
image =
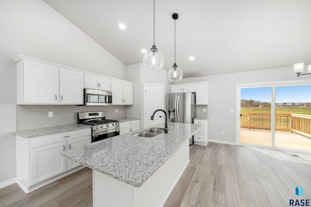
{"type": "Polygon", "coordinates": [[[127,106],[17,105],[17,131],[76,124],[77,112],[85,111],[106,111],[107,119],[116,119],[126,117],[127,106]]]}

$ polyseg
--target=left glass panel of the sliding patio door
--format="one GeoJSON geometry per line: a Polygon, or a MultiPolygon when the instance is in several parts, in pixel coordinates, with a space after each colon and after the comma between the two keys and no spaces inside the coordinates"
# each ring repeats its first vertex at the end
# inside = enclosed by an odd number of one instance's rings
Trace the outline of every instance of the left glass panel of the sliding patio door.
{"type": "Polygon", "coordinates": [[[241,88],[240,142],[272,145],[272,87],[241,88]]]}

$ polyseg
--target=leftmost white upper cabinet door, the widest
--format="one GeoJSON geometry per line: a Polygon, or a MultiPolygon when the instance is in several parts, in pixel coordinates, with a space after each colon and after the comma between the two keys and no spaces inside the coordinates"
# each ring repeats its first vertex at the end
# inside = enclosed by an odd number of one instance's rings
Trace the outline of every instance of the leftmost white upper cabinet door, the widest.
{"type": "Polygon", "coordinates": [[[59,103],[59,68],[24,61],[24,103],[59,103]]]}

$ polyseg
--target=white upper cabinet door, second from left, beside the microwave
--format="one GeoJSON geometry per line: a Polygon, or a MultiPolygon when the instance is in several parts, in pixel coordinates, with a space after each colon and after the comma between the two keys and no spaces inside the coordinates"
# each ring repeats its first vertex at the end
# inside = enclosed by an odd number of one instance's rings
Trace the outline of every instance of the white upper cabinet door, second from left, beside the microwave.
{"type": "Polygon", "coordinates": [[[61,104],[83,104],[84,74],[60,68],[59,95],[61,104]]]}

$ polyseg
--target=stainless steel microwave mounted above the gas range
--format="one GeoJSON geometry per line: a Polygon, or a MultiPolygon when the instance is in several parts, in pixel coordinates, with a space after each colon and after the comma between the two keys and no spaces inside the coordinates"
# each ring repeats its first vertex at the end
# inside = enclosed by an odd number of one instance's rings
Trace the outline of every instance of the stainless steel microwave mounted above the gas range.
{"type": "Polygon", "coordinates": [[[112,105],[112,92],[85,88],[84,105],[86,106],[107,106],[112,105]]]}

